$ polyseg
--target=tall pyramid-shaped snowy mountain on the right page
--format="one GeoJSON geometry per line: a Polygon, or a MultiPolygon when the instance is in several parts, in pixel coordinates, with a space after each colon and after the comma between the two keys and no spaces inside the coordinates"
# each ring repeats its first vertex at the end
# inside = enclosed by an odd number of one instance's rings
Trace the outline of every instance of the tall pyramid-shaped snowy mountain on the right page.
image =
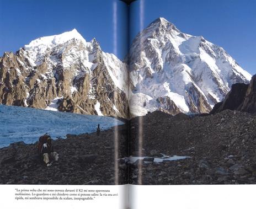
{"type": "Polygon", "coordinates": [[[130,48],[130,111],[209,112],[234,83],[252,77],[220,46],[158,18],[130,48]]]}

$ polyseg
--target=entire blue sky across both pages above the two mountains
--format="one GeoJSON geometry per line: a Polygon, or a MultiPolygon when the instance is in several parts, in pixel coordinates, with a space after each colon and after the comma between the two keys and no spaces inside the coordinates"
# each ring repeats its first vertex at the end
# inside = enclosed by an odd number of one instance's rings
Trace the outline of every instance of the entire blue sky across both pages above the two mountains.
{"type": "MultiPolygon", "coordinates": [[[[140,31],[140,2],[131,4],[130,39],[140,31]]],[[[158,17],[222,46],[244,69],[256,73],[255,0],[144,0],[143,27],[158,17]]],[[[118,0],[0,0],[0,56],[37,37],[73,28],[87,41],[95,37],[105,52],[121,59],[127,53],[127,9],[118,0]]]]}

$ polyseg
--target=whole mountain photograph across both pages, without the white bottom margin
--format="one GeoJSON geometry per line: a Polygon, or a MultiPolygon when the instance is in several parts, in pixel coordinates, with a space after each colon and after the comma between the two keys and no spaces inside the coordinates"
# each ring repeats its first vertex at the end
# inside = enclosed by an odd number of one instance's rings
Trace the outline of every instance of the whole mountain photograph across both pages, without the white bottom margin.
{"type": "Polygon", "coordinates": [[[0,2],[0,184],[256,183],[249,4],[0,2]]]}

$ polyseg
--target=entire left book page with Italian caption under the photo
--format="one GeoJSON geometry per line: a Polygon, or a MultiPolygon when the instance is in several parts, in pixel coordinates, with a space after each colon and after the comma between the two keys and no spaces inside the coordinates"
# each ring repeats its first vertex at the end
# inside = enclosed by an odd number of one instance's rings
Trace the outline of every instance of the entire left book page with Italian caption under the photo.
{"type": "Polygon", "coordinates": [[[126,4],[1,0],[0,12],[3,207],[125,207],[126,4]]]}

